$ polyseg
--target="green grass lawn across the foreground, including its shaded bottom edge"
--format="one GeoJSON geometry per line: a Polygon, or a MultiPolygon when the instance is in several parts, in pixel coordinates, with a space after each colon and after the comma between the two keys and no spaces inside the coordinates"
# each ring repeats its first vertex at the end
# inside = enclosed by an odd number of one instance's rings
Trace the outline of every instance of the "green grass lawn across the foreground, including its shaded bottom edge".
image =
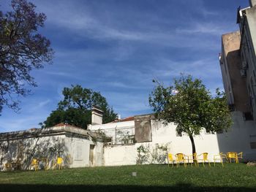
{"type": "Polygon", "coordinates": [[[256,191],[256,167],[142,165],[0,172],[0,191],[256,191]]]}

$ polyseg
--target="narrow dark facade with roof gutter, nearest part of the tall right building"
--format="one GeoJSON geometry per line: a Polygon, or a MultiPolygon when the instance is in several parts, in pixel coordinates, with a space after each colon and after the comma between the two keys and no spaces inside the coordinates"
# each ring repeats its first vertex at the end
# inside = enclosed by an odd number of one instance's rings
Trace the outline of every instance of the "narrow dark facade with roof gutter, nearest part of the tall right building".
{"type": "Polygon", "coordinates": [[[256,120],[256,0],[250,0],[249,3],[250,7],[239,7],[237,23],[241,34],[241,77],[246,80],[250,112],[256,120]]]}

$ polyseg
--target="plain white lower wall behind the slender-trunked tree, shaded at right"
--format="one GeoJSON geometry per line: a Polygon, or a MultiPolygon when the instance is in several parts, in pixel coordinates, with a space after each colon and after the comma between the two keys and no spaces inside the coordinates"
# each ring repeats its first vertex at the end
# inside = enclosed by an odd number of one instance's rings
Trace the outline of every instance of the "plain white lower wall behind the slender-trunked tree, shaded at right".
{"type": "MultiPolygon", "coordinates": [[[[235,151],[244,153],[244,161],[256,160],[256,150],[251,148],[251,142],[255,142],[256,145],[254,121],[244,121],[241,112],[233,112],[232,115],[234,123],[229,131],[222,134],[208,134],[203,129],[200,135],[194,137],[197,155],[206,152],[209,154],[209,160],[213,161],[214,155],[220,152],[235,151]]],[[[129,122],[129,124],[132,124],[132,122],[129,122]]],[[[106,126],[110,127],[108,124],[106,126]]],[[[101,126],[105,130],[108,129],[107,127],[101,126]]],[[[162,122],[151,120],[151,134],[151,142],[105,146],[104,165],[165,164],[167,163],[167,152],[173,155],[176,153],[192,154],[192,145],[189,137],[187,134],[178,136],[175,123],[169,123],[165,126],[162,122]],[[141,147],[146,151],[145,153],[138,153],[141,147]],[[167,148],[167,151],[165,148],[167,148]]]]}

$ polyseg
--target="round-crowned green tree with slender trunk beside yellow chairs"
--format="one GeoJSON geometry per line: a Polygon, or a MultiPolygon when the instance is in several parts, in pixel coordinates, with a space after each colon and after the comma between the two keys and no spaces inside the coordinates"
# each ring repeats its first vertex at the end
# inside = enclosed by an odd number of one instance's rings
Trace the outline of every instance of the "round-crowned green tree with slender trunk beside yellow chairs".
{"type": "Polygon", "coordinates": [[[230,128],[232,120],[227,100],[219,89],[216,96],[211,96],[201,80],[193,80],[191,75],[184,74],[166,88],[154,82],[157,85],[149,96],[149,104],[156,118],[165,124],[178,123],[176,131],[189,136],[192,153],[196,152],[194,136],[203,128],[212,134],[230,128]]]}

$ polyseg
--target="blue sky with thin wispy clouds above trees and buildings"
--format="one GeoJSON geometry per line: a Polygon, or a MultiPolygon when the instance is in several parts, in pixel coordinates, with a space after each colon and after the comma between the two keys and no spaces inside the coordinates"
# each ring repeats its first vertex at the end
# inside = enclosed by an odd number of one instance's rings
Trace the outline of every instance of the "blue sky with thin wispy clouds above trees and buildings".
{"type": "MultiPolygon", "coordinates": [[[[47,20],[52,65],[34,70],[38,87],[20,98],[21,110],[4,108],[0,132],[39,127],[62,99],[82,85],[99,91],[121,118],[151,112],[152,79],[170,85],[181,72],[222,88],[221,35],[238,30],[236,9],[245,0],[32,1],[47,20]]],[[[0,1],[10,9],[10,1],[0,1]]]]}

